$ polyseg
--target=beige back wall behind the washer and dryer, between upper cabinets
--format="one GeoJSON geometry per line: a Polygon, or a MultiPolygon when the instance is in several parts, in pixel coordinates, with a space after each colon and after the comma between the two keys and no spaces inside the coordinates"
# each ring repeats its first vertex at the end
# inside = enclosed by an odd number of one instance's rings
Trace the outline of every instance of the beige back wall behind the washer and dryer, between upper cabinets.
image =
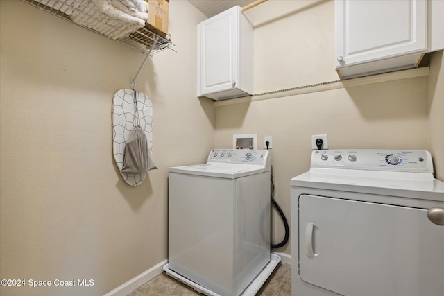
{"type": "MultiPolygon", "coordinates": [[[[255,94],[338,80],[334,1],[268,1],[247,14],[255,23],[255,94]]],[[[441,64],[441,56],[432,62],[441,64]]],[[[259,148],[264,148],[264,136],[271,135],[275,199],[290,220],[290,179],[308,171],[313,134],[328,134],[333,149],[432,148],[435,155],[438,151],[443,155],[442,68],[432,67],[433,76],[440,69],[441,76],[431,107],[427,105],[427,76],[217,104],[215,146],[231,147],[232,134],[257,133],[259,148]]],[[[435,160],[436,171],[442,172],[441,155],[435,160]]],[[[272,220],[273,242],[278,243],[284,234],[275,211],[272,220]]],[[[278,251],[290,254],[291,244],[278,251]]]]}

